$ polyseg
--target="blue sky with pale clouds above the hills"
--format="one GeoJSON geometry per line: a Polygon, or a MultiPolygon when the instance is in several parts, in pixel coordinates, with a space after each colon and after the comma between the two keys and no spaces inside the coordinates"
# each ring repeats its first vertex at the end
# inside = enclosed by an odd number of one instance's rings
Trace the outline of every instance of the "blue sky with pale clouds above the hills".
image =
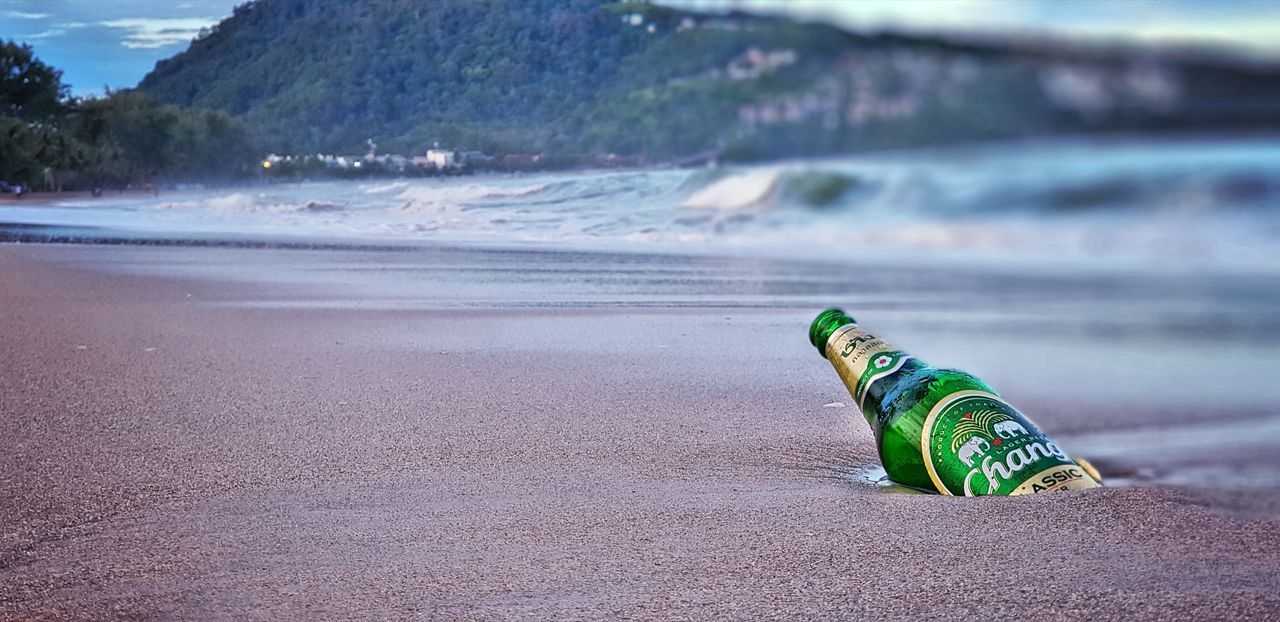
{"type": "MultiPolygon", "coordinates": [[[[73,95],[132,87],[244,0],[0,0],[0,40],[29,44],[73,95]]],[[[330,0],[358,1],[358,0],[330,0]]],[[[425,1],[425,0],[424,0],[425,1]]],[[[467,1],[467,0],[452,0],[467,1]]],[[[1197,44],[1280,60],[1280,0],[659,0],[786,13],[855,29],[1197,44]]]]}

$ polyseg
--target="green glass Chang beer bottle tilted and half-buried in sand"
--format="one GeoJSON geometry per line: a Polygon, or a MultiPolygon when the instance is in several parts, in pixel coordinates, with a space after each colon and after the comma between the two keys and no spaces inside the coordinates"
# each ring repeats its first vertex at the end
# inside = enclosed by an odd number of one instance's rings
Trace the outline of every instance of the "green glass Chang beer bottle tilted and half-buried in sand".
{"type": "Polygon", "coordinates": [[[849,387],[897,482],[970,497],[1100,486],[978,378],[931,367],[838,308],[818,314],[809,340],[849,387]]]}

